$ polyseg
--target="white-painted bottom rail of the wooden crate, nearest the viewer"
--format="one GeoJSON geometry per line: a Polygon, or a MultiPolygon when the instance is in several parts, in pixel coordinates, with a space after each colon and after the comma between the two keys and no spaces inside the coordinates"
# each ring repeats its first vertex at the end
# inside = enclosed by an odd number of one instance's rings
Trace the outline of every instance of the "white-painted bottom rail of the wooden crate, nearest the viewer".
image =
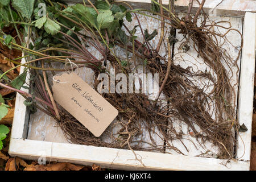
{"type": "Polygon", "coordinates": [[[142,159],[142,166],[130,150],[106,147],[82,146],[68,143],[41,142],[36,140],[12,139],[9,154],[26,159],[71,162],[82,165],[100,164],[102,168],[125,170],[248,170],[249,162],[225,161],[212,158],[197,158],[183,155],[135,151],[142,159]],[[37,146],[37,147],[35,147],[37,146]],[[28,155],[29,154],[29,155],[28,155]]]}

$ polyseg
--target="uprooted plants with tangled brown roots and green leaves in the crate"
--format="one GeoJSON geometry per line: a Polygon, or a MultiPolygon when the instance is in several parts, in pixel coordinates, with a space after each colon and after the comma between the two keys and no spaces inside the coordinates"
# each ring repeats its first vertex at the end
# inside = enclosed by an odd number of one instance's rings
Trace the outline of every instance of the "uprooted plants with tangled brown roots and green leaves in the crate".
{"type": "MultiPolygon", "coordinates": [[[[228,42],[226,35],[230,31],[236,31],[239,35],[241,33],[231,26],[222,25],[230,24],[229,22],[210,21],[203,10],[205,1],[201,2],[200,8],[193,17],[191,16],[193,1],[191,1],[187,14],[182,18],[175,13],[174,1],[170,1],[168,8],[162,5],[162,1],[151,1],[154,7],[152,10],[133,10],[125,2],[96,1],[93,4],[88,1],[89,5],[84,3],[67,6],[60,2],[48,1],[45,16],[41,18],[34,16],[34,22],[31,16],[26,22],[30,30],[28,40],[32,40],[34,44],[28,42],[19,46],[10,43],[13,48],[27,52],[26,58],[33,58],[23,64],[9,59],[18,64],[17,67],[28,67],[32,75],[30,93],[17,89],[15,91],[27,98],[27,105],[32,111],[35,111],[35,101],[40,102],[42,106],[36,104],[36,107],[55,117],[65,136],[73,143],[160,152],[171,149],[184,154],[172,144],[173,140],[180,140],[183,143],[185,134],[174,127],[174,122],[180,122],[185,123],[189,131],[193,131],[193,137],[202,147],[206,142],[217,146],[218,158],[234,158],[236,138],[233,130],[237,130],[239,125],[236,121],[235,91],[230,84],[228,72],[232,71],[232,67],[238,68],[237,61],[241,48],[233,59],[221,47],[220,39],[228,42]],[[144,13],[145,11],[153,14],[144,13]],[[156,46],[151,44],[151,40],[158,32],[155,30],[148,33],[148,30],[143,30],[138,14],[150,16],[160,22],[160,38],[156,46]],[[138,24],[129,30],[127,24],[133,17],[138,24]],[[201,22],[198,22],[199,19],[201,22]],[[34,28],[33,34],[32,28],[34,28]],[[221,34],[214,28],[223,28],[226,31],[221,34]],[[137,29],[141,32],[142,41],[135,36],[137,29]],[[201,57],[212,72],[193,71],[192,68],[183,68],[177,64],[172,50],[172,46],[177,42],[176,31],[184,36],[180,49],[185,52],[189,47],[195,49],[198,53],[197,57],[201,57]],[[48,35],[50,38],[47,38],[48,35]],[[53,36],[55,45],[50,43],[53,36]],[[44,43],[43,47],[42,43],[44,43]],[[100,56],[93,55],[89,48],[97,50],[100,56]],[[166,52],[164,56],[159,53],[163,48],[166,52]],[[117,53],[117,49],[121,49],[123,55],[117,53]],[[65,71],[66,69],[53,68],[55,65],[52,63],[57,61],[67,64],[67,59],[79,65],[77,67],[81,65],[94,70],[96,90],[98,75],[110,74],[110,68],[115,70],[115,74],[120,71],[125,75],[138,73],[139,67],[144,72],[159,73],[159,94],[155,100],[149,100],[143,93],[102,93],[102,96],[119,111],[117,123],[121,125],[117,135],[112,136],[113,142],[106,143],[101,138],[94,137],[53,100],[47,73],[52,71],[55,75],[55,71],[65,71]],[[206,80],[209,84],[201,88],[195,80],[206,80]],[[210,92],[206,91],[207,88],[211,88],[210,92]],[[161,94],[164,98],[160,97],[161,94]],[[145,130],[150,135],[150,142],[142,138],[145,130]],[[159,145],[153,135],[158,135],[164,144],[159,145]],[[149,144],[150,147],[144,147],[144,143],[149,144]]],[[[234,74],[238,76],[238,72],[234,74]]],[[[13,89],[4,84],[0,86],[13,89]]],[[[184,147],[186,148],[185,144],[184,147]]]]}

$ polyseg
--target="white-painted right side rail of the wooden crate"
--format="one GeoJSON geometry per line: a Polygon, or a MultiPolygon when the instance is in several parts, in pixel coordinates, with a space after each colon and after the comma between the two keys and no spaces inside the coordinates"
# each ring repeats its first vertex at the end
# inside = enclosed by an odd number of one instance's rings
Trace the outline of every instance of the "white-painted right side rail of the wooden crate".
{"type": "Polygon", "coordinates": [[[246,13],[243,22],[243,49],[240,73],[238,121],[247,131],[238,136],[237,158],[250,160],[251,118],[253,118],[254,73],[255,73],[256,14],[246,13]]]}

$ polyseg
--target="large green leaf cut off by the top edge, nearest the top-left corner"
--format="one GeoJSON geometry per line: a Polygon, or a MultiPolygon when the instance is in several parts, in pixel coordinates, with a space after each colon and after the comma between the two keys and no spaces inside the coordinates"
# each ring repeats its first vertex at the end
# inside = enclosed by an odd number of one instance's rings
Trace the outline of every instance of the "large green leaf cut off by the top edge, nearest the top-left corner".
{"type": "Polygon", "coordinates": [[[27,19],[31,18],[31,15],[34,13],[34,3],[35,0],[12,0],[13,7],[19,11],[23,17],[27,19]]]}

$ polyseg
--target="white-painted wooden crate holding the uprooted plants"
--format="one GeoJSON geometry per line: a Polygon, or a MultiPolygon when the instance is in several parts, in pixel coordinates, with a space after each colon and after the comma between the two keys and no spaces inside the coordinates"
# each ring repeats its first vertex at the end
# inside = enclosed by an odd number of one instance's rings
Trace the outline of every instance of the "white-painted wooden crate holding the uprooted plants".
{"type": "MultiPolygon", "coordinates": [[[[76,2],[76,1],[75,1],[76,2]]],[[[135,7],[150,7],[150,0],[129,0],[135,7]]],[[[178,0],[176,9],[183,11],[187,9],[188,0],[178,0]]],[[[164,5],[168,1],[163,1],[164,5]]],[[[196,6],[196,3],[194,3],[196,6]]],[[[208,0],[205,3],[205,10],[208,11],[217,5],[217,1],[208,0]]],[[[196,9],[196,8],[195,8],[196,9]]],[[[142,159],[144,166],[135,160],[135,156],[130,150],[116,148],[83,146],[67,143],[61,137],[60,129],[55,128],[46,134],[46,125],[53,126],[53,120],[46,117],[39,118],[40,113],[31,116],[24,106],[24,98],[17,93],[13,128],[11,131],[11,140],[9,154],[11,156],[20,156],[26,159],[36,160],[45,156],[47,160],[58,162],[72,162],[77,164],[92,165],[100,164],[103,168],[116,169],[167,169],[167,170],[249,170],[250,166],[250,142],[251,142],[251,118],[253,114],[253,83],[255,68],[255,43],[256,43],[256,1],[236,1],[226,0],[217,7],[217,15],[228,15],[243,18],[243,49],[240,64],[240,84],[238,94],[237,117],[242,125],[245,123],[248,130],[240,133],[237,143],[237,160],[232,160],[228,166],[221,159],[199,158],[196,156],[161,154],[157,152],[135,151],[138,158],[142,159]],[[240,2],[240,4],[236,4],[240,2]],[[28,123],[31,118],[38,122],[34,123],[32,132],[28,132],[28,123]],[[38,124],[35,128],[35,125],[38,124]],[[39,125],[40,124],[40,125],[39,125]],[[36,129],[43,138],[33,138],[36,129]],[[53,136],[53,135],[57,135],[53,136]],[[32,137],[31,137],[32,136],[32,137]],[[242,157],[241,157],[242,156],[242,157]],[[240,158],[241,157],[241,158],[240,158]]],[[[20,70],[20,73],[22,73],[20,70]]],[[[27,90],[25,90],[27,91],[27,90]]]]}

